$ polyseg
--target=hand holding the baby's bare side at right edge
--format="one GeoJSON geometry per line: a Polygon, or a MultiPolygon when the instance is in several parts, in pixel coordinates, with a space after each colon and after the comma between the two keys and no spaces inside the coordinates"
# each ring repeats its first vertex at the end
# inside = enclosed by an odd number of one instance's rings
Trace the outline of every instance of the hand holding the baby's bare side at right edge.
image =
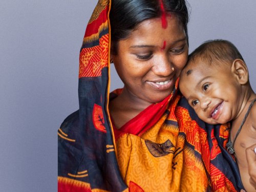
{"type": "Polygon", "coordinates": [[[256,144],[246,148],[246,159],[250,175],[250,184],[256,190],[256,144]]]}

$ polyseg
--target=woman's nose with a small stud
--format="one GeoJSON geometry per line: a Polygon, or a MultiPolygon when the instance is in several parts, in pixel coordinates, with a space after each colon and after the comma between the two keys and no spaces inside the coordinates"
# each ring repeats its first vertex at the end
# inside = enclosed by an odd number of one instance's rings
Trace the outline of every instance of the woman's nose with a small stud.
{"type": "Polygon", "coordinates": [[[172,64],[168,61],[167,58],[162,57],[154,63],[153,71],[156,75],[166,77],[173,72],[172,64]]]}

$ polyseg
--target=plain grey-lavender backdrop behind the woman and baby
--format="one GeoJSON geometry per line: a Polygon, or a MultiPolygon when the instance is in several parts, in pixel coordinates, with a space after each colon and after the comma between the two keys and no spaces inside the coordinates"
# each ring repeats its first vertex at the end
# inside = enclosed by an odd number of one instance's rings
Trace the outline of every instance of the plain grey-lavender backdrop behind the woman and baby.
{"type": "MultiPolygon", "coordinates": [[[[230,40],[256,91],[256,1],[188,2],[190,52],[230,40]]],[[[57,129],[78,110],[79,50],[96,4],[0,1],[0,192],[57,191],[57,129]]],[[[111,67],[112,91],[122,82],[111,67]]]]}

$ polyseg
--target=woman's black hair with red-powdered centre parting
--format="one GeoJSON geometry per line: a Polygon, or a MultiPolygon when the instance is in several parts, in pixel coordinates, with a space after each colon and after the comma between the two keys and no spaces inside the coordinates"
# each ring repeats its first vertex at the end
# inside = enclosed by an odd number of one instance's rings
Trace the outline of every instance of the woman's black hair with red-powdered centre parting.
{"type": "Polygon", "coordinates": [[[186,0],[112,0],[110,10],[111,53],[117,55],[118,41],[125,39],[145,19],[160,18],[164,11],[175,15],[187,36],[188,10],[186,0]]]}

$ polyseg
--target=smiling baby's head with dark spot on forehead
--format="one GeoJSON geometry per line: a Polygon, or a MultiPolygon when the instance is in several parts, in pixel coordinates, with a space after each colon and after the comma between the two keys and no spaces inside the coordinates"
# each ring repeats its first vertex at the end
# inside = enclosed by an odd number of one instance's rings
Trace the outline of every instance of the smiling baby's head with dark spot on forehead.
{"type": "Polygon", "coordinates": [[[238,49],[217,39],[204,42],[188,56],[179,86],[200,119],[223,124],[240,114],[250,83],[238,49]]]}

